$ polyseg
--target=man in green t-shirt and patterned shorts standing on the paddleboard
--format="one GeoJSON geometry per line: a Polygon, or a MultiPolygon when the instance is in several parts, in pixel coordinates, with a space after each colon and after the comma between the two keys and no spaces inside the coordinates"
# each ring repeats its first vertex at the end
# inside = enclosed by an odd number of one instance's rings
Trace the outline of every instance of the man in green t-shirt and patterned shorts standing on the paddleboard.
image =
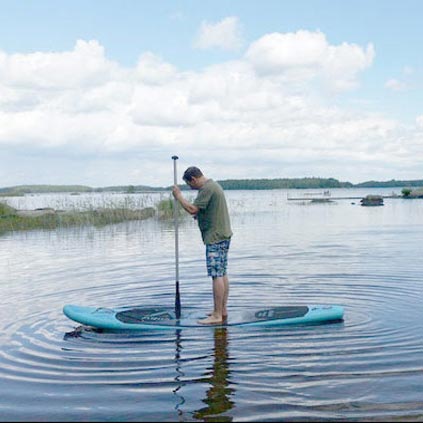
{"type": "Polygon", "coordinates": [[[229,279],[226,268],[232,237],[225,194],[217,182],[206,178],[195,166],[185,171],[183,179],[191,189],[198,190],[194,204],[183,197],[177,185],[173,187],[173,195],[198,221],[206,245],[207,274],[213,280],[213,312],[198,322],[204,325],[220,324],[228,315],[229,279]]]}

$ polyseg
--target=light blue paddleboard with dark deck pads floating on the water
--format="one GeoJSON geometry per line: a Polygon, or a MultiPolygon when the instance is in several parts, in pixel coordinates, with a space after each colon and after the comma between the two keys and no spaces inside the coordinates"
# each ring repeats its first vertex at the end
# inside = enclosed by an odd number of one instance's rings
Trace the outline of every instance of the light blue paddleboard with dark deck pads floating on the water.
{"type": "Polygon", "coordinates": [[[323,323],[342,320],[343,307],[339,305],[298,305],[231,311],[223,324],[203,325],[204,311],[182,310],[177,319],[175,310],[166,307],[84,307],[67,304],[64,314],[75,322],[109,330],[183,329],[195,327],[282,326],[323,323]]]}

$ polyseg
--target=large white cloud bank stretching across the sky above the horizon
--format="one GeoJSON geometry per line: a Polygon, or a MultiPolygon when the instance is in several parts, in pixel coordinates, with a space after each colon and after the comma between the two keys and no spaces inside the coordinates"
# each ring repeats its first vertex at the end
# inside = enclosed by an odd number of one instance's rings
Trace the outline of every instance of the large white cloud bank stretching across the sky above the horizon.
{"type": "MultiPolygon", "coordinates": [[[[96,41],[78,41],[69,52],[0,52],[0,149],[67,157],[67,178],[74,157],[78,180],[94,186],[168,185],[172,154],[222,179],[396,177],[421,164],[421,116],[405,130],[383,116],[327,106],[325,91],[310,95],[322,80],[351,89],[373,54],[371,46],[333,46],[306,31],[270,34],[240,60],[190,72],[152,53],[123,68],[96,41]],[[80,160],[90,160],[86,173],[80,160]]],[[[22,175],[26,162],[6,163],[0,177],[22,175]]]]}

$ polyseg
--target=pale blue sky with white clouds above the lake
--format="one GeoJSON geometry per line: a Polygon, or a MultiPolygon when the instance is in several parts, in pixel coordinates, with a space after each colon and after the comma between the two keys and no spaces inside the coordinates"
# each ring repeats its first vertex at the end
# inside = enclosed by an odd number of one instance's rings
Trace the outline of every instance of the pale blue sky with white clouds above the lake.
{"type": "Polygon", "coordinates": [[[423,179],[421,0],[0,0],[0,187],[423,179]],[[182,182],[182,181],[180,181],[182,182]]]}

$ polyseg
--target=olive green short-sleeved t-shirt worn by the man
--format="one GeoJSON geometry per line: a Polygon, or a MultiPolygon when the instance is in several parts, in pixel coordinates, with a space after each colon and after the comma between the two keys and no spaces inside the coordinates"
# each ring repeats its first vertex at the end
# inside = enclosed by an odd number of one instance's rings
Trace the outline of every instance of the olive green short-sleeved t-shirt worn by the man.
{"type": "Polygon", "coordinates": [[[225,194],[217,182],[208,179],[194,205],[199,208],[197,219],[204,244],[215,244],[232,236],[225,194]]]}

